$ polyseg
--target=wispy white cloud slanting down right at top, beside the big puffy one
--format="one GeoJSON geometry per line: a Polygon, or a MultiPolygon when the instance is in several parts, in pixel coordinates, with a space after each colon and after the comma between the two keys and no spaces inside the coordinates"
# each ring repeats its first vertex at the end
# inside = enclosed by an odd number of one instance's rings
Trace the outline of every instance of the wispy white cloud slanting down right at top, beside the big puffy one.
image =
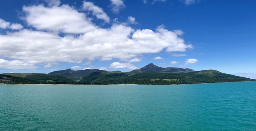
{"type": "Polygon", "coordinates": [[[103,9],[94,5],[94,3],[92,2],[87,2],[84,0],[83,9],[93,12],[93,15],[95,15],[98,19],[102,19],[107,23],[110,22],[109,16],[103,11],[103,9]]]}

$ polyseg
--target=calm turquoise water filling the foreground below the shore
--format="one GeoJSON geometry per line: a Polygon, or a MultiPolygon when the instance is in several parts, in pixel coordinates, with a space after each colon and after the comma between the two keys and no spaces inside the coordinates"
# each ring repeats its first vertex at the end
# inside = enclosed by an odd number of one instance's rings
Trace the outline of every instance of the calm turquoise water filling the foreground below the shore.
{"type": "Polygon", "coordinates": [[[0,85],[0,131],[256,131],[256,82],[0,85]]]}

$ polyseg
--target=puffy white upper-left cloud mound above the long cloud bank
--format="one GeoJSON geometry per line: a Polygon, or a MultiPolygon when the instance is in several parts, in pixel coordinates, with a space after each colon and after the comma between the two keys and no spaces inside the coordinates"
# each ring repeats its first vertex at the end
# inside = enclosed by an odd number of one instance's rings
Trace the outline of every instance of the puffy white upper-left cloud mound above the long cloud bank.
{"type": "Polygon", "coordinates": [[[80,34],[97,30],[86,14],[69,5],[44,7],[43,5],[23,6],[27,24],[38,30],[80,34]]]}

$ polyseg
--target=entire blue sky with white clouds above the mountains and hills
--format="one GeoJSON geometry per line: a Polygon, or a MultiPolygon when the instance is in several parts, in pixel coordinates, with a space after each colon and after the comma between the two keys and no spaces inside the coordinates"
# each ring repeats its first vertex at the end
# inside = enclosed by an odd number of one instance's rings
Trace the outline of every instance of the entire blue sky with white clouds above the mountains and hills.
{"type": "Polygon", "coordinates": [[[0,73],[148,63],[256,78],[255,0],[1,0],[0,73]]]}

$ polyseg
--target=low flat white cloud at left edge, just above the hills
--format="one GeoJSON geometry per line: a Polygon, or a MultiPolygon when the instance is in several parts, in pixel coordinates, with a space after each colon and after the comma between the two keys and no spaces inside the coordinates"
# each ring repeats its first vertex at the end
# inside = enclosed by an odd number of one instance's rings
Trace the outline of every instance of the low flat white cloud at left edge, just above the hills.
{"type": "Polygon", "coordinates": [[[19,60],[5,60],[0,59],[0,69],[13,69],[13,70],[19,70],[19,69],[29,69],[29,70],[35,70],[37,69],[37,66],[26,63],[19,60]]]}

